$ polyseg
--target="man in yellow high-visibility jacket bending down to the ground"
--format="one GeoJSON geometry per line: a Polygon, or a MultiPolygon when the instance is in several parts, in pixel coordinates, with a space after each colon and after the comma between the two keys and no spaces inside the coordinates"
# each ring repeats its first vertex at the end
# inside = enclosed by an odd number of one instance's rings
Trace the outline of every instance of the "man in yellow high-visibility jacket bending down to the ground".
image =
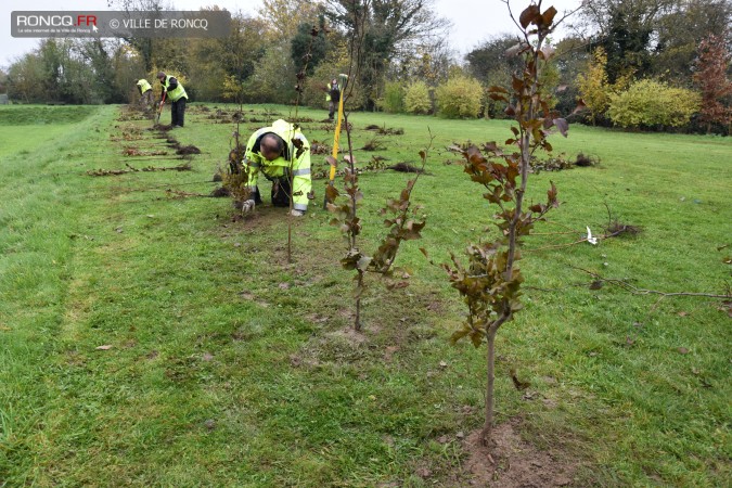
{"type": "Polygon", "coordinates": [[[249,171],[247,185],[252,196],[244,202],[242,211],[251,211],[255,204],[261,203],[257,187],[261,174],[272,182],[272,205],[288,207],[292,197],[291,214],[295,217],[305,214],[312,196],[310,143],[298,126],[279,119],[255,131],[246,143],[243,163],[249,171]]]}

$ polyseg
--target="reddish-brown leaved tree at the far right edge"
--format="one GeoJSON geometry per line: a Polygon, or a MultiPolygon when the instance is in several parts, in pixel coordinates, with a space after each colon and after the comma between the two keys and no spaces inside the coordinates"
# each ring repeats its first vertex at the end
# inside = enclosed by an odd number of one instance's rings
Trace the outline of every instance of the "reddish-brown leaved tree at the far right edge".
{"type": "MultiPolygon", "coordinates": [[[[702,117],[707,125],[707,133],[714,124],[729,126],[732,123],[732,81],[727,75],[730,53],[724,37],[710,35],[702,41],[694,82],[702,91],[702,117]]],[[[728,129],[729,130],[729,129],[728,129]]]]}

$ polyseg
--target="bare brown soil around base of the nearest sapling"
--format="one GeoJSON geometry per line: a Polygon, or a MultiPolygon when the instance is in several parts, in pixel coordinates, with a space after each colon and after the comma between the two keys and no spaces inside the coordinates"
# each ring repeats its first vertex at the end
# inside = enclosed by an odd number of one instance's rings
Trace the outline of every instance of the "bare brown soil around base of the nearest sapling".
{"type": "Polygon", "coordinates": [[[470,455],[463,465],[470,486],[491,488],[561,487],[573,481],[576,463],[558,460],[522,439],[521,419],[512,419],[493,428],[490,446],[479,441],[480,431],[463,441],[470,455]]]}

